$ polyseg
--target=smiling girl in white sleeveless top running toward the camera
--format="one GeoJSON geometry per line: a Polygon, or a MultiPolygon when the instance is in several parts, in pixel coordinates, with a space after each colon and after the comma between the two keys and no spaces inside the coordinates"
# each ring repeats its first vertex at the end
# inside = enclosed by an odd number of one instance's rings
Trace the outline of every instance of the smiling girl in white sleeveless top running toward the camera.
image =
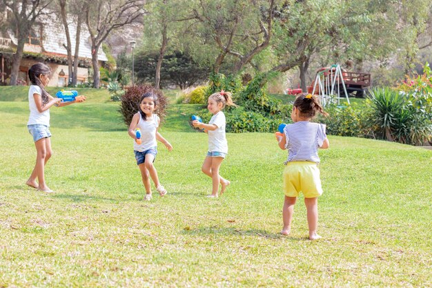
{"type": "Polygon", "coordinates": [[[159,182],[157,171],[153,162],[157,155],[157,142],[164,143],[168,151],[173,150],[170,142],[168,142],[162,135],[157,131],[160,124],[159,117],[154,114],[157,108],[157,95],[155,93],[144,93],[139,101],[139,112],[135,113],[130,122],[128,134],[132,139],[135,140],[133,144],[133,150],[135,153],[135,160],[139,171],[141,171],[141,179],[146,189],[146,196],[144,200],[152,199],[152,190],[150,186],[150,177],[155,183],[156,190],[159,195],[166,195],[166,189],[159,182]],[[139,128],[141,137],[137,139],[137,133],[135,130],[139,128]]]}

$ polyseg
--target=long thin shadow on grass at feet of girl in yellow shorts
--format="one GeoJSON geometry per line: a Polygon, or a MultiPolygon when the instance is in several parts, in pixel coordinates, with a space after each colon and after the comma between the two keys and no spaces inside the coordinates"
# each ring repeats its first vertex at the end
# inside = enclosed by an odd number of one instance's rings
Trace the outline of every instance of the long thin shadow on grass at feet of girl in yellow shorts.
{"type": "Polygon", "coordinates": [[[248,230],[241,230],[237,229],[235,227],[224,227],[224,228],[218,228],[215,226],[212,227],[201,227],[197,229],[190,229],[190,230],[183,230],[183,233],[189,234],[189,235],[208,235],[208,234],[222,234],[222,235],[239,235],[239,236],[258,236],[262,238],[267,239],[288,239],[288,240],[307,240],[307,238],[298,238],[298,237],[291,237],[291,236],[283,236],[279,233],[270,233],[265,230],[261,229],[248,229],[248,230]]]}

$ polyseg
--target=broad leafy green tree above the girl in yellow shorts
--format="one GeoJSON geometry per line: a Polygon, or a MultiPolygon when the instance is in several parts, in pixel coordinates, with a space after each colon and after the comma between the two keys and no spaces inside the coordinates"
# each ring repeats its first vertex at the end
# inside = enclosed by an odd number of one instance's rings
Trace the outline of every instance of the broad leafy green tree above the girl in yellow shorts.
{"type": "Polygon", "coordinates": [[[296,1],[284,6],[273,41],[280,62],[272,70],[298,67],[306,91],[306,73],[314,58],[328,65],[389,57],[397,48],[396,7],[377,0],[296,1]]]}

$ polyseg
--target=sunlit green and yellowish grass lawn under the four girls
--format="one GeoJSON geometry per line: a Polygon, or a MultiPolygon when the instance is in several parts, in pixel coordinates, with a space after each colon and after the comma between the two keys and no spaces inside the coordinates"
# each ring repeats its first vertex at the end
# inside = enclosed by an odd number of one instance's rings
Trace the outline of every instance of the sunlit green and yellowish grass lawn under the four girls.
{"type": "Polygon", "coordinates": [[[286,151],[273,134],[227,135],[232,184],[209,199],[197,106],[171,105],[161,133],[174,150],[159,144],[155,162],[168,195],[144,202],[118,104],[88,93],[51,109],[53,194],[25,185],[28,103],[0,101],[0,287],[432,287],[432,151],[330,136],[323,238],[309,241],[302,198],[279,235],[286,151]]]}

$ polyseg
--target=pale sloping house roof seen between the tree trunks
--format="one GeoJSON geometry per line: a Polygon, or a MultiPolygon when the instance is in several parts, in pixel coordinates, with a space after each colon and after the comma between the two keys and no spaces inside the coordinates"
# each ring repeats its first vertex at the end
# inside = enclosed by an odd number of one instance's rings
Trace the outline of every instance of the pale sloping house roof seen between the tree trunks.
{"type": "MultiPolygon", "coordinates": [[[[72,46],[72,55],[75,52],[75,35],[77,34],[77,25],[73,19],[68,19],[68,28],[70,34],[70,42],[72,46]]],[[[63,44],[66,45],[66,32],[64,30],[63,23],[61,20],[55,15],[55,13],[50,13],[49,15],[45,15],[43,18],[39,20],[43,27],[42,34],[42,47],[43,52],[49,55],[58,55],[58,56],[66,56],[68,52],[66,48],[63,47],[63,44]]],[[[12,39],[12,43],[14,45],[18,44],[17,37],[8,31],[10,35],[10,39],[12,39]]],[[[26,49],[24,49],[26,52],[26,49]]],[[[97,53],[99,61],[108,61],[104,51],[102,48],[99,48],[97,53]]],[[[87,58],[92,59],[91,54],[91,45],[90,45],[90,33],[87,30],[86,23],[82,23],[81,25],[81,37],[79,41],[79,58],[87,58]]]]}

